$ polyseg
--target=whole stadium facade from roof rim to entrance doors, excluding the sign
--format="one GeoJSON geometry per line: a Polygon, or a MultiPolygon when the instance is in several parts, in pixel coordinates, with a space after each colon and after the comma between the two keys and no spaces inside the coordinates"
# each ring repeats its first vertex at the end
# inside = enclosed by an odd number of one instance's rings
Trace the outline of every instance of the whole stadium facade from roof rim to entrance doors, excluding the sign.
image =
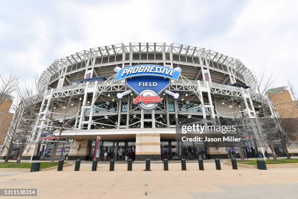
{"type": "MultiPolygon", "coordinates": [[[[177,119],[220,124],[222,119],[256,118],[261,100],[255,93],[254,75],[239,59],[175,43],[121,43],[83,50],[55,60],[42,73],[38,86],[44,92],[40,119],[35,123],[24,159],[41,156],[45,145],[38,140],[46,134],[58,136],[56,129],[63,120],[61,137],[72,140],[67,151],[69,159],[93,159],[98,136],[100,159],[104,152],[112,154],[111,158],[123,159],[127,150],[135,153],[136,160],[174,159],[184,149],[188,155],[199,151],[204,158],[226,158],[227,147],[204,142],[184,146],[177,143],[177,119]],[[144,64],[181,69],[179,79],[170,80],[167,90],[160,94],[161,102],[152,110],[132,103],[135,93],[117,98],[118,93],[130,88],[125,80],[114,81],[115,67],[144,64]],[[173,94],[179,94],[179,98],[174,99],[173,94]]],[[[249,137],[242,142],[247,153],[255,146],[256,141],[249,137]]],[[[231,150],[243,150],[235,148],[231,150]]]]}

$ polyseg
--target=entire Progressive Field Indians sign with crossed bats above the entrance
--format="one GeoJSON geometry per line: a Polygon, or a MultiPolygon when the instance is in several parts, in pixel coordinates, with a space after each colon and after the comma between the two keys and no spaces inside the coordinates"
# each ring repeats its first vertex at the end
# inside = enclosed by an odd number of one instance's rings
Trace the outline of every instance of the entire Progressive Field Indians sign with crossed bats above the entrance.
{"type": "Polygon", "coordinates": [[[117,98],[134,92],[138,96],[132,100],[132,103],[138,104],[142,109],[152,110],[162,101],[159,96],[163,91],[174,99],[179,98],[178,93],[166,90],[170,85],[170,79],[178,80],[181,74],[181,68],[175,69],[159,65],[135,65],[126,68],[115,67],[117,73],[114,81],[125,80],[126,85],[131,89],[123,93],[118,93],[117,98]]]}

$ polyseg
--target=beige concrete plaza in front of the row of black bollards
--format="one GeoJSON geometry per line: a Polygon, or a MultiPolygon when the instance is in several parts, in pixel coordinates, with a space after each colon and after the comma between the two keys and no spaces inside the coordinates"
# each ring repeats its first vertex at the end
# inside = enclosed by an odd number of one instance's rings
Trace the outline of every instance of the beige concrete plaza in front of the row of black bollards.
{"type": "MultiPolygon", "coordinates": [[[[187,162],[186,171],[180,163],[169,163],[163,171],[162,163],[151,163],[152,171],[144,171],[144,163],[127,164],[82,163],[80,171],[74,165],[63,171],[40,172],[0,171],[0,188],[37,188],[33,199],[297,199],[298,169],[232,170],[222,163],[222,170],[214,162],[205,162],[200,171],[197,162],[187,162]]],[[[4,198],[4,197],[0,197],[4,198]]],[[[20,197],[9,197],[9,199],[20,197]]]]}

